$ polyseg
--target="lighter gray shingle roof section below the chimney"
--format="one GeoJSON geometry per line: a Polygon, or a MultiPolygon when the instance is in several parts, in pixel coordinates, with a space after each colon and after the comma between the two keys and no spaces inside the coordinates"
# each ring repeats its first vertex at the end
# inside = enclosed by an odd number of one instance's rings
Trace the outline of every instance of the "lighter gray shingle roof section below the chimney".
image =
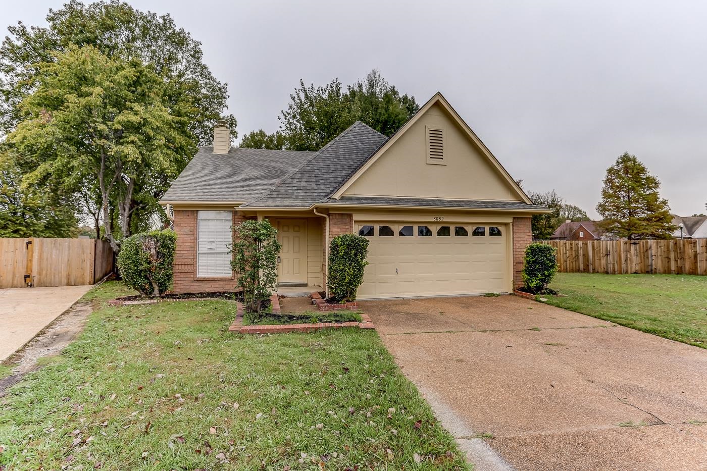
{"type": "Polygon", "coordinates": [[[227,154],[218,154],[212,146],[204,146],[162,201],[252,201],[314,155],[315,152],[261,149],[230,149],[227,154]]]}

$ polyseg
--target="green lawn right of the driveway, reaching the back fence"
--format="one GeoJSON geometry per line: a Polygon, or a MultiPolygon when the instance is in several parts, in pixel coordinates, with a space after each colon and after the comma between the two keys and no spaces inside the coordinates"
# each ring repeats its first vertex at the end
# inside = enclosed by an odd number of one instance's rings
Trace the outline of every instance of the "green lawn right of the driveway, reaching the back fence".
{"type": "Polygon", "coordinates": [[[558,273],[547,303],[707,348],[707,277],[558,273]]]}

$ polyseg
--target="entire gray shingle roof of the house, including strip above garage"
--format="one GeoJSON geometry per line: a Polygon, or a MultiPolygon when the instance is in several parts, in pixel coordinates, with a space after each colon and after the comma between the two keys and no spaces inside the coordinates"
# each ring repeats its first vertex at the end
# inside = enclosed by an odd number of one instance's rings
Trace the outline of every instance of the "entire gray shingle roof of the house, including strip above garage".
{"type": "Polygon", "coordinates": [[[202,147],[162,197],[164,202],[245,202],[242,207],[308,208],[366,204],[469,209],[547,209],[524,202],[397,197],[341,197],[336,190],[373,156],[387,137],[355,122],[317,152],[202,147]]]}

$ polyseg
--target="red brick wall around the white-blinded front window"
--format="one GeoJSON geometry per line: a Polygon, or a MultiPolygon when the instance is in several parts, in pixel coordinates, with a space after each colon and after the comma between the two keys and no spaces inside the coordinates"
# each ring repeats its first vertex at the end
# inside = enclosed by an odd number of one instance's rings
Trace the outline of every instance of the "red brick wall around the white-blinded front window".
{"type": "MultiPolygon", "coordinates": [[[[233,224],[245,221],[233,211],[233,224]]],[[[175,209],[174,228],[177,233],[175,252],[174,293],[233,291],[235,277],[197,278],[197,211],[175,209]]]]}

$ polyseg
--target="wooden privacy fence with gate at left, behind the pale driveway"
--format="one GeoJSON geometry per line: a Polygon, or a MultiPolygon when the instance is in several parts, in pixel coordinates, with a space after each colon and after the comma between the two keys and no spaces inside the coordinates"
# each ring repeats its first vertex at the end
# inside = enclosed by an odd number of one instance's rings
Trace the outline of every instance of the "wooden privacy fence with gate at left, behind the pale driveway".
{"type": "Polygon", "coordinates": [[[94,284],[113,271],[113,250],[89,238],[0,238],[0,288],[94,284]]]}

